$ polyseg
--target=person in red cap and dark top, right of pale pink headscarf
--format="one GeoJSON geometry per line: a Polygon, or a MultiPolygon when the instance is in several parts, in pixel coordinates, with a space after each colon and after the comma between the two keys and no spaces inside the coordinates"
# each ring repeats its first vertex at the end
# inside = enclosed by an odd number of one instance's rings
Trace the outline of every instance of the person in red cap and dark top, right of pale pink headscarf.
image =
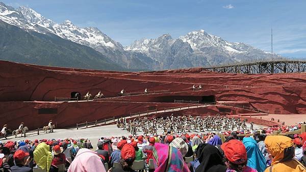
{"type": "Polygon", "coordinates": [[[124,172],[124,171],[129,171],[129,172],[136,172],[135,170],[132,169],[133,162],[135,161],[135,149],[131,144],[125,144],[121,150],[121,155],[120,155],[120,167],[114,168],[112,167],[111,170],[112,172],[124,172]]]}

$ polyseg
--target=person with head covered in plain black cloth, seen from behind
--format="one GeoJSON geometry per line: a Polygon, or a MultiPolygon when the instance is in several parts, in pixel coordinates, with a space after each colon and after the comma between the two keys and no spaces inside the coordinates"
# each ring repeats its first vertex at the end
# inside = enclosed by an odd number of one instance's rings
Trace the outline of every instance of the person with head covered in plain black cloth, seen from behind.
{"type": "Polygon", "coordinates": [[[200,144],[197,147],[196,155],[199,165],[195,172],[225,172],[226,166],[218,148],[210,144],[200,144]]]}

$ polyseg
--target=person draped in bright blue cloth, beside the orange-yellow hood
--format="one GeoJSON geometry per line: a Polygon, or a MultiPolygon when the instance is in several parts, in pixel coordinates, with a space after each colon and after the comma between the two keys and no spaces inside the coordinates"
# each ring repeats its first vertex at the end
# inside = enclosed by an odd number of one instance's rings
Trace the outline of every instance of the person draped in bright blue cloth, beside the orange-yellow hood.
{"type": "Polygon", "coordinates": [[[266,159],[259,150],[256,140],[251,137],[244,137],[243,145],[247,154],[247,166],[257,169],[258,172],[263,172],[266,169],[266,159]]]}

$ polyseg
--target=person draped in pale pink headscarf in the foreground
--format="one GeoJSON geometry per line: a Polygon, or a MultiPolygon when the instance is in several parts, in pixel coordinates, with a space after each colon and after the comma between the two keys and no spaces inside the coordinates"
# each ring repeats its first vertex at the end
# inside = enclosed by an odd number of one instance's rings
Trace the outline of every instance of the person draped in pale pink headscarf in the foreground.
{"type": "Polygon", "coordinates": [[[106,172],[106,170],[96,152],[82,148],[70,164],[68,172],[106,172]]]}

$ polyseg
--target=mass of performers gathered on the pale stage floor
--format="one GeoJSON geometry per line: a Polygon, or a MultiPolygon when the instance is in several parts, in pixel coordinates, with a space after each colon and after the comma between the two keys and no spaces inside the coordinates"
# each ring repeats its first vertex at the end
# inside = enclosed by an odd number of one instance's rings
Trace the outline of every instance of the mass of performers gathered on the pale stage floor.
{"type": "MultiPolygon", "coordinates": [[[[228,118],[224,116],[178,116],[173,114],[169,117],[160,118],[134,118],[133,120],[126,120],[126,118],[120,118],[117,120],[117,127],[123,128],[133,135],[137,135],[137,132],[143,132],[147,134],[157,134],[159,128],[164,132],[183,133],[183,132],[195,132],[201,131],[221,131],[221,130],[245,130],[247,120],[241,120],[240,118],[228,118]]],[[[253,122],[250,123],[249,129],[253,130],[253,122]]]]}

